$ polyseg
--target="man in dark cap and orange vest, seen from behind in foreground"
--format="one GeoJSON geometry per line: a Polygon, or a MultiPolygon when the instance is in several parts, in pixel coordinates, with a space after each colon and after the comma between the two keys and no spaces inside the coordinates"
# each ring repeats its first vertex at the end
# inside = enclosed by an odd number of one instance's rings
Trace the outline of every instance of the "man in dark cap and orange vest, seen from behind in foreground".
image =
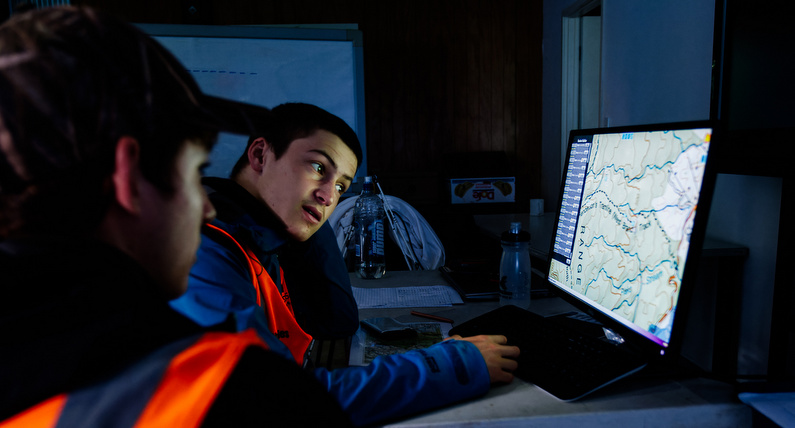
{"type": "Polygon", "coordinates": [[[0,427],[351,425],[256,329],[169,305],[215,215],[218,132],[269,116],[91,9],[0,25],[0,427]]]}

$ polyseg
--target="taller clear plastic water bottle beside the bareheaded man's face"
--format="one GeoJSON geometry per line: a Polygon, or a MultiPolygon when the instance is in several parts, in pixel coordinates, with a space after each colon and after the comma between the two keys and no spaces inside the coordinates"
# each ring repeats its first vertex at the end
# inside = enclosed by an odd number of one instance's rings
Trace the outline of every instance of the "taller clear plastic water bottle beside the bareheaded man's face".
{"type": "Polygon", "coordinates": [[[362,193],[356,200],[353,209],[353,221],[356,228],[356,259],[357,272],[365,279],[377,279],[384,276],[386,263],[384,260],[384,201],[373,190],[372,177],[364,178],[362,193]]]}

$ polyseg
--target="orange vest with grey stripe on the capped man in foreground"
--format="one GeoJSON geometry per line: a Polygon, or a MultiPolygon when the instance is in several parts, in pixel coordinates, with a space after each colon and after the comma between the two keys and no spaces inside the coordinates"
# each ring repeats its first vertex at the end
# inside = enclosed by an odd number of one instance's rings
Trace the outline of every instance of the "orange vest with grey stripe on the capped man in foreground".
{"type": "Polygon", "coordinates": [[[179,340],[109,381],[52,397],[0,428],[196,427],[250,346],[268,349],[253,329],[179,340]]]}

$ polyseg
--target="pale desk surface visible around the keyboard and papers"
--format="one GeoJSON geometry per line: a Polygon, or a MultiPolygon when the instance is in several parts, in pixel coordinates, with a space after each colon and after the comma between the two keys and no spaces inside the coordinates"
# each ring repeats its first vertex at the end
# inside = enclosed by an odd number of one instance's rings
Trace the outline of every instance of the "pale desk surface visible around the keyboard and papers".
{"type": "MultiPolygon", "coordinates": [[[[445,284],[437,271],[395,271],[378,280],[351,275],[355,287],[404,287],[445,284]]],[[[497,307],[497,302],[468,302],[452,308],[416,308],[451,318],[456,324],[497,307]]],[[[427,321],[410,314],[413,308],[362,309],[360,319],[390,316],[402,322],[427,321]]],[[[537,299],[531,309],[542,315],[573,309],[558,298],[537,299]]],[[[582,400],[566,403],[536,386],[515,379],[493,387],[485,396],[443,409],[426,412],[390,426],[750,426],[751,409],[742,404],[725,383],[708,379],[630,378],[619,381],[582,400]]]]}

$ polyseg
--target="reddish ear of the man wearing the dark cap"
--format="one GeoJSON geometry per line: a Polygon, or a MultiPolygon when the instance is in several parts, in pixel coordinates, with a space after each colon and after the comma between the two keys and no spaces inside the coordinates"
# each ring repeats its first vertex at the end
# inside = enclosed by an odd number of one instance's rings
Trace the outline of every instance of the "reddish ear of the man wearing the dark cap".
{"type": "Polygon", "coordinates": [[[140,156],[138,140],[128,135],[116,142],[113,190],[116,202],[130,213],[140,212],[140,156]]]}

